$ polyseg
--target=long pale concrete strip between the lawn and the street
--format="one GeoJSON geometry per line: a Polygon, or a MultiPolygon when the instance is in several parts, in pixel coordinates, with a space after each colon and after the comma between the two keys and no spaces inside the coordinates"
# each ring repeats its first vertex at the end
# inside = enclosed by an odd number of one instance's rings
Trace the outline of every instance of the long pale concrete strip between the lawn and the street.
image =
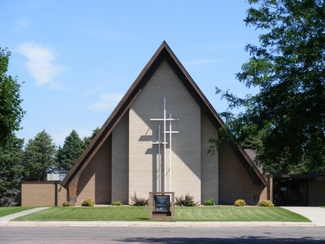
{"type": "Polygon", "coordinates": [[[139,221],[10,221],[0,226],[55,227],[315,227],[313,222],[139,222],[139,221]]]}

